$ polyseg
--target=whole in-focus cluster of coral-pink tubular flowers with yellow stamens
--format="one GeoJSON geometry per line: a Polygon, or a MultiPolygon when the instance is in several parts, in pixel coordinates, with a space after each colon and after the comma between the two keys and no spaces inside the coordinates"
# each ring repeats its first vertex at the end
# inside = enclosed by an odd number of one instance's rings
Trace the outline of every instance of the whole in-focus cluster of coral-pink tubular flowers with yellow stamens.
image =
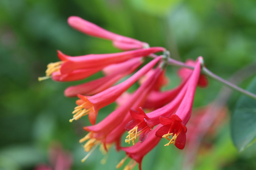
{"type": "Polygon", "coordinates": [[[187,65],[193,66],[194,70],[182,68],[178,71],[180,85],[161,91],[162,86],[169,82],[165,76],[169,57],[165,48],[149,47],[148,43],[109,32],[75,16],[68,18],[68,24],[87,35],[110,40],[114,47],[124,50],[112,54],[81,56],[69,56],[57,51],[60,61],[48,64],[46,77],[39,78],[52,78],[61,82],[76,81],[96,72],[103,72],[104,77],[70,86],[64,92],[67,97],[79,98],[72,112],[73,118],[69,121],[88,115],[92,124],[84,127],[88,133],[79,141],[85,142],[84,150],[89,152],[82,161],[87,159],[98,145],[103,152],[107,152],[108,148],[115,144],[117,150],[123,150],[127,155],[116,166],[117,168],[130,157],[132,160],[124,169],[132,169],[138,163],[141,169],[143,157],[161,138],[168,140],[164,146],[173,144],[183,149],[186,143],[186,124],[191,115],[196,87],[205,87],[208,84],[204,75],[200,74],[202,57],[198,57],[196,61],[186,62],[187,65]],[[158,52],[162,52],[163,55],[155,55],[158,52]],[[153,56],[154,59],[137,70],[147,56],[153,56]],[[116,84],[128,75],[131,76],[116,84]],[[127,93],[126,91],[137,81],[140,84],[139,88],[127,93]],[[118,105],[116,110],[96,123],[99,110],[113,102],[118,105]],[[150,112],[146,114],[143,109],[150,112]],[[125,130],[128,131],[125,142],[132,143],[133,146],[120,145],[125,130]]]}

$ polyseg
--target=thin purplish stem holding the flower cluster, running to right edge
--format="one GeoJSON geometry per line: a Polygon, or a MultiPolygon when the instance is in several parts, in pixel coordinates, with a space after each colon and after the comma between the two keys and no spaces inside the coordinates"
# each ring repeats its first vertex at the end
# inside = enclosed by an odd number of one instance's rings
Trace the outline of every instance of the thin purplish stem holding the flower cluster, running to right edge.
{"type": "MultiPolygon", "coordinates": [[[[172,58],[169,58],[168,59],[168,63],[170,65],[175,65],[175,66],[180,66],[180,67],[186,67],[188,69],[194,69],[194,67],[192,66],[189,66],[183,62],[180,62],[180,61],[177,61],[177,60],[174,60],[172,58]]],[[[237,85],[233,84],[233,83],[230,83],[229,81],[217,76],[216,74],[212,73],[210,70],[208,70],[206,67],[203,66],[202,70],[201,70],[202,74],[222,83],[223,85],[226,85],[228,86],[229,88],[233,89],[233,90],[236,90],[238,92],[241,92],[242,94],[248,96],[248,97],[251,97],[253,99],[256,100],[256,95],[254,93],[251,93],[251,92],[248,92],[240,87],[238,87],[237,85]]]]}

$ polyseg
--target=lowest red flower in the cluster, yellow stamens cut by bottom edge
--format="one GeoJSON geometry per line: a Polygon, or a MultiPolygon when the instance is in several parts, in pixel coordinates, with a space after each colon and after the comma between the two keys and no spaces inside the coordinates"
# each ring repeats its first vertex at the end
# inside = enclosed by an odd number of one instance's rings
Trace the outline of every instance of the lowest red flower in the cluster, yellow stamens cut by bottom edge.
{"type": "Polygon", "coordinates": [[[137,163],[139,163],[139,168],[141,170],[141,163],[144,156],[150,152],[160,141],[160,138],[155,136],[155,132],[161,127],[161,125],[156,126],[152,130],[152,133],[148,135],[148,138],[143,143],[137,143],[130,147],[122,147],[121,149],[126,152],[126,157],[122,159],[116,168],[120,168],[125,160],[130,157],[131,161],[124,167],[124,170],[132,170],[137,163]]]}

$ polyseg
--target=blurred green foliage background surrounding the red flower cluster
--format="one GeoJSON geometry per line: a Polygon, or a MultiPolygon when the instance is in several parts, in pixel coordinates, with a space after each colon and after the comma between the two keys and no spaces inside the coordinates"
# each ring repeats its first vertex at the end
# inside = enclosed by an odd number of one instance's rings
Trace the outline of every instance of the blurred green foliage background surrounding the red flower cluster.
{"type": "MultiPolygon", "coordinates": [[[[68,122],[76,99],[63,95],[68,85],[77,82],[37,81],[48,63],[58,61],[56,49],[73,56],[118,52],[111,42],[70,28],[67,18],[71,15],[150,46],[163,46],[180,61],[202,55],[208,69],[223,78],[255,62],[255,0],[0,0],[0,169],[34,169],[38,164],[49,164],[49,148],[56,143],[72,154],[74,170],[115,169],[124,157],[124,152],[116,153],[112,148],[102,165],[104,156],[95,150],[81,163],[86,153],[78,140],[86,134],[82,127],[89,122],[85,117],[68,122]]],[[[177,69],[168,67],[170,85],[165,89],[179,83],[177,69]]],[[[98,73],[81,82],[100,76],[98,73]]],[[[239,85],[246,88],[251,79],[239,85]]],[[[221,86],[210,80],[208,88],[198,88],[194,107],[212,102],[221,86]]],[[[228,100],[229,114],[239,96],[234,92],[228,100]]],[[[100,110],[97,122],[114,108],[112,104],[100,110]]],[[[208,147],[198,153],[194,169],[256,169],[255,147],[238,153],[228,118],[214,137],[204,140],[208,147]]],[[[186,152],[164,144],[161,141],[145,157],[143,169],[183,167],[186,152]]]]}

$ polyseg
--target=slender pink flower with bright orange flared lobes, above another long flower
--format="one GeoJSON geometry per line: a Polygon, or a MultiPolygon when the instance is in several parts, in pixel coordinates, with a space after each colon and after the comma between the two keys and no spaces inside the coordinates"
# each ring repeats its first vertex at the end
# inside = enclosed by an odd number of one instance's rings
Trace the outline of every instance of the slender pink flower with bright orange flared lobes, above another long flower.
{"type": "Polygon", "coordinates": [[[77,104],[79,104],[79,106],[75,107],[75,110],[72,112],[75,115],[73,116],[73,119],[70,119],[69,121],[72,122],[73,120],[77,120],[84,115],[88,115],[90,122],[92,124],[95,124],[96,117],[100,108],[113,103],[123,92],[125,92],[129,87],[131,87],[142,75],[144,75],[146,72],[152,69],[161,58],[162,58],[161,56],[155,58],[154,60],[149,62],[147,65],[142,67],[139,71],[134,73],[130,78],[128,78],[124,82],[118,85],[115,85],[113,87],[110,87],[98,94],[95,94],[93,96],[77,95],[80,98],[80,100],[76,102],[77,104]]]}

